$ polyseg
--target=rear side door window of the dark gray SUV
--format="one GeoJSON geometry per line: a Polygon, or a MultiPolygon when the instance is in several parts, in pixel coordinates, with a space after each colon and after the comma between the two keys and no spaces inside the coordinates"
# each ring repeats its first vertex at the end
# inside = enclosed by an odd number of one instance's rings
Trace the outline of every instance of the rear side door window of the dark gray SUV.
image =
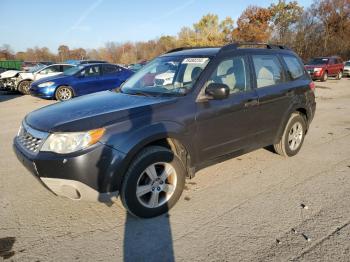
{"type": "Polygon", "coordinates": [[[276,55],[253,55],[252,58],[258,88],[284,82],[283,67],[276,55]]]}

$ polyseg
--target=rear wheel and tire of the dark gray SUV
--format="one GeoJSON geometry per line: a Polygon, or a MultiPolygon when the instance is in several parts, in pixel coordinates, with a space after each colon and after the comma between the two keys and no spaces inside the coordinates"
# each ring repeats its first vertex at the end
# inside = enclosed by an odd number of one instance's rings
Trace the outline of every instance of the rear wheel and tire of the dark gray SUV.
{"type": "Polygon", "coordinates": [[[280,141],[273,145],[276,153],[285,157],[295,156],[303,145],[305,133],[305,118],[300,113],[293,113],[288,120],[280,141]]]}

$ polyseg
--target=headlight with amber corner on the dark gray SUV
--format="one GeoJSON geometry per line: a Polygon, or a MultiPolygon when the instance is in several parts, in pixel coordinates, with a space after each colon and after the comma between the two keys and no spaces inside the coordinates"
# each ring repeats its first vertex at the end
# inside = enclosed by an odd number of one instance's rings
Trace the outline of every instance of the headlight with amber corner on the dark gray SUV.
{"type": "Polygon", "coordinates": [[[68,154],[96,144],[105,132],[99,128],[87,132],[53,133],[43,144],[41,151],[68,154]]]}

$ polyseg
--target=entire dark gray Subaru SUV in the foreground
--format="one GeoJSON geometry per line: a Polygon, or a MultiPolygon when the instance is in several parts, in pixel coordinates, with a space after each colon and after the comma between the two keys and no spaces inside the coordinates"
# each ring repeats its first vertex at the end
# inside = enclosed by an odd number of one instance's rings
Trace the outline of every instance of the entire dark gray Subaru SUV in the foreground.
{"type": "Polygon", "coordinates": [[[315,107],[313,82],[283,46],[180,48],[117,90],[28,114],[14,150],[57,195],[119,195],[130,213],[153,217],[203,167],[268,145],[297,154],[315,107]]]}

